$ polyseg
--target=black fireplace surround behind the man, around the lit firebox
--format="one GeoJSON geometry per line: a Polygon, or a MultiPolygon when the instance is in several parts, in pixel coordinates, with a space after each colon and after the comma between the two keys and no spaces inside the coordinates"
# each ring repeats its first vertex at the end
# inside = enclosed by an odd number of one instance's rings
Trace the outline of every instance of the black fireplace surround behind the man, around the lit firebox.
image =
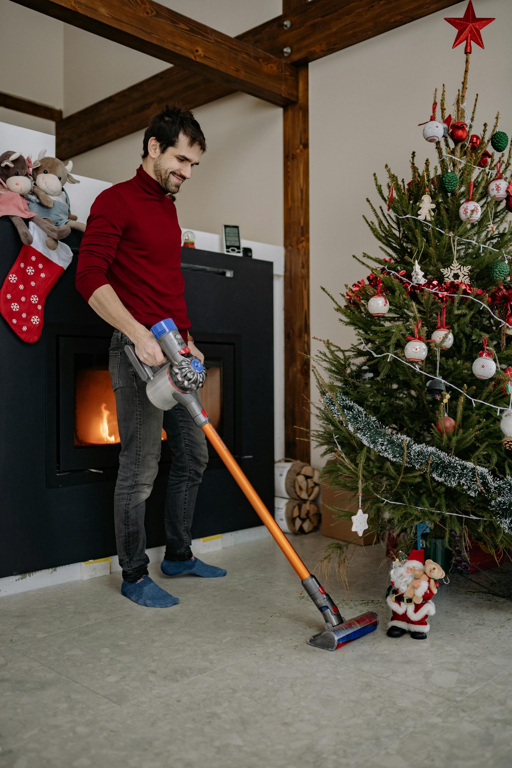
{"type": "MultiPolygon", "coordinates": [[[[84,442],[75,429],[77,382],[83,370],[104,382],[112,332],[74,287],[80,237],[73,231],[66,241],[74,259],[48,296],[39,341],[22,342],[0,318],[0,578],[116,551],[112,505],[119,443],[84,442]]],[[[0,218],[2,283],[19,249],[11,221],[0,218]]],[[[220,392],[218,431],[263,501],[272,505],[272,263],[190,248],[183,248],[182,262],[194,340],[206,366],[215,369],[220,392]]],[[[108,432],[107,439],[114,441],[114,435],[108,432]]],[[[147,501],[148,547],[165,543],[169,469],[163,442],[147,501]]],[[[193,538],[254,525],[260,521],[253,508],[210,453],[193,538]]]]}

